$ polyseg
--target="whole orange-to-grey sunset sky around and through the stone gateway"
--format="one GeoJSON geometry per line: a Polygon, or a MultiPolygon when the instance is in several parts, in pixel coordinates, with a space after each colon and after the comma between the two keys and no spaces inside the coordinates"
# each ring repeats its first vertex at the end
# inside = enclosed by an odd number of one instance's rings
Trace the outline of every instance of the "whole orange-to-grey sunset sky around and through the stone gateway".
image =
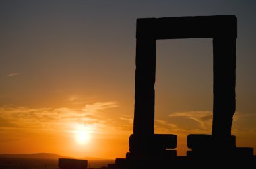
{"type": "MultiPolygon", "coordinates": [[[[256,149],[256,1],[0,1],[0,153],[124,158],[141,17],[236,15],[237,146],[256,149]]],[[[211,133],[212,38],[157,40],[155,132],[211,133]]],[[[255,151],[256,154],[256,151],[255,151]]]]}

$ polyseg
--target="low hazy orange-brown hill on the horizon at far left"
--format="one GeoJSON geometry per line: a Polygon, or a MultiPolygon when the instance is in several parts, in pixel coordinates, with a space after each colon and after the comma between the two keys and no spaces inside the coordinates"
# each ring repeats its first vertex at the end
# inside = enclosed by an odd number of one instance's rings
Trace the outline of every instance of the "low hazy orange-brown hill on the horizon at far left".
{"type": "Polygon", "coordinates": [[[34,154],[0,154],[0,158],[72,158],[67,156],[61,156],[53,153],[34,153],[34,154]]]}

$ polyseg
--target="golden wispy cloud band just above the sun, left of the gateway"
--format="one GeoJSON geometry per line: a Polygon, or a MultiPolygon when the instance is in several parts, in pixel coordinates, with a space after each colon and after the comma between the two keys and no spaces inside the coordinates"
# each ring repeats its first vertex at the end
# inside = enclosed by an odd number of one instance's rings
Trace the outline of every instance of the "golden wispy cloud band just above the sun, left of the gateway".
{"type": "Polygon", "coordinates": [[[35,129],[44,131],[69,130],[72,125],[90,125],[96,131],[111,127],[110,119],[100,115],[101,111],[117,107],[115,102],[98,102],[87,104],[82,108],[68,107],[30,108],[5,105],[0,107],[0,128],[35,129]]]}

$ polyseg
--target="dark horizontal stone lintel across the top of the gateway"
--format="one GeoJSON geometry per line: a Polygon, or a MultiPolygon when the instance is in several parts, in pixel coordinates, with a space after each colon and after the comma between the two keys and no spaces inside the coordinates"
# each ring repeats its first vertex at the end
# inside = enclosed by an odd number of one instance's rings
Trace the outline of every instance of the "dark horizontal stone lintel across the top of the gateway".
{"type": "Polygon", "coordinates": [[[237,37],[235,15],[137,19],[137,39],[237,37]]]}

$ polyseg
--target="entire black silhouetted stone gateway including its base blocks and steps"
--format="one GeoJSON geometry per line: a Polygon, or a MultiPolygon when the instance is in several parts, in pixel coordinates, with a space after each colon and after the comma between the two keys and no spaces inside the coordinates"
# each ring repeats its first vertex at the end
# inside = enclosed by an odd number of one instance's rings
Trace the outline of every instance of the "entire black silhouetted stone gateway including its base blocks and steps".
{"type": "Polygon", "coordinates": [[[236,147],[231,135],[236,110],[234,15],[137,19],[135,110],[126,158],[108,168],[252,168],[253,148],[236,147]],[[214,108],[212,135],[187,136],[187,156],[177,156],[177,135],[154,133],[156,40],[213,38],[214,108]]]}

